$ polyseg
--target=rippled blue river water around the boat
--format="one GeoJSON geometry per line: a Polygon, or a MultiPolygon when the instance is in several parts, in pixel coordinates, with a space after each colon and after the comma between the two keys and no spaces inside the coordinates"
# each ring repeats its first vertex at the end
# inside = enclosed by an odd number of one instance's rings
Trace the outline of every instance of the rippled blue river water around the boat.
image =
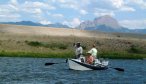
{"type": "Polygon", "coordinates": [[[146,60],[109,60],[101,71],[69,70],[65,59],[0,58],[0,84],[146,84],[146,60]],[[55,62],[45,66],[47,62],[55,62]]]}

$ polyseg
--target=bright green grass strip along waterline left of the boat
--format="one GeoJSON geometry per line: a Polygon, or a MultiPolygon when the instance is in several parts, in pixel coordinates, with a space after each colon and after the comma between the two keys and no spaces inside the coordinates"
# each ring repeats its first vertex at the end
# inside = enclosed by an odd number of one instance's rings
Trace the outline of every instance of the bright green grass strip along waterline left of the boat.
{"type": "Polygon", "coordinates": [[[71,58],[72,52],[49,52],[49,53],[37,53],[37,52],[10,52],[1,51],[1,57],[37,57],[37,58],[71,58]]]}

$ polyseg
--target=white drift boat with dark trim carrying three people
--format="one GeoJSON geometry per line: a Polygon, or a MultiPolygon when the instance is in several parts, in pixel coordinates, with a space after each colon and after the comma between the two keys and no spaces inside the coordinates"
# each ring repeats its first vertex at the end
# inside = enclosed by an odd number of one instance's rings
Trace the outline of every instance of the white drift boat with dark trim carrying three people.
{"type": "Polygon", "coordinates": [[[106,70],[108,69],[108,61],[95,59],[93,65],[87,64],[79,59],[68,59],[69,69],[72,70],[106,70]]]}

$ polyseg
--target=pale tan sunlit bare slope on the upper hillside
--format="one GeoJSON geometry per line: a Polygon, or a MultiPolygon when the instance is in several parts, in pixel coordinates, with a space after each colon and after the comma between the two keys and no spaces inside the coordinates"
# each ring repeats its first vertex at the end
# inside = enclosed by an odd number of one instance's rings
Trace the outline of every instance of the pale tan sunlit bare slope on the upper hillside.
{"type": "Polygon", "coordinates": [[[19,35],[39,35],[39,36],[78,36],[78,37],[108,37],[110,33],[91,32],[86,30],[69,29],[69,28],[52,28],[40,26],[20,26],[0,24],[0,33],[19,34],[19,35]]]}

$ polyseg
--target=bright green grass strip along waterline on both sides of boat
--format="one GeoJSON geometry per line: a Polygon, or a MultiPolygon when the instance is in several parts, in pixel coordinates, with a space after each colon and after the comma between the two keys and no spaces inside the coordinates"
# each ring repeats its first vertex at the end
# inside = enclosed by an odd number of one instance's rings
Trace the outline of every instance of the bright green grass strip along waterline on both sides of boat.
{"type": "MultiPolygon", "coordinates": [[[[85,54],[84,54],[85,56],[85,54]]],[[[28,57],[28,58],[74,58],[74,52],[9,52],[1,51],[0,57],[28,57]]],[[[145,59],[145,54],[131,54],[131,53],[119,53],[119,52],[104,52],[99,53],[99,58],[107,59],[145,59]]]]}

